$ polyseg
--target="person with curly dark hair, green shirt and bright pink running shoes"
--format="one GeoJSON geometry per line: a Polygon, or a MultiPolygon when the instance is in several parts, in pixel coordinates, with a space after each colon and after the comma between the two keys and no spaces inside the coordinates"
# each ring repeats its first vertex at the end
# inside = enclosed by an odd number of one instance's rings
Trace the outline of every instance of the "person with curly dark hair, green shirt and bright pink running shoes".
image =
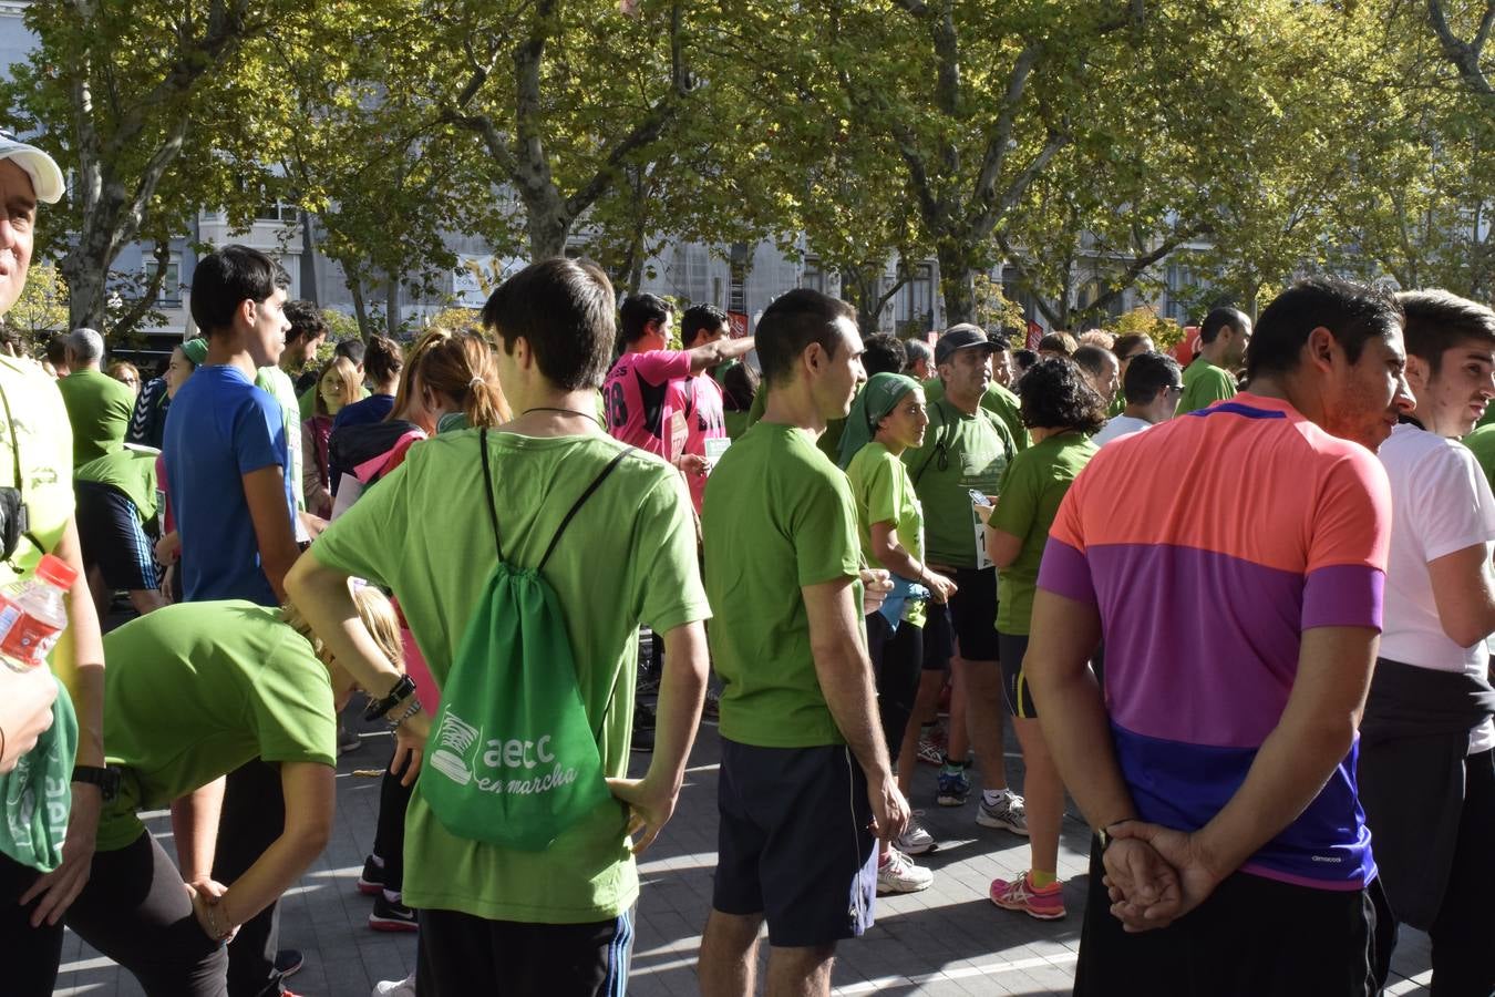
{"type": "Polygon", "coordinates": [[[1106,422],[1105,401],[1090,387],[1073,362],[1041,360],[1018,386],[1023,423],[1033,445],[1008,465],[997,505],[982,510],[987,520],[987,556],[997,565],[997,647],[1008,709],[1017,717],[1023,746],[1032,867],[1014,880],[991,883],[991,901],[1051,921],[1064,916],[1058,883],[1058,828],[1064,816],[1064,785],[1044,743],[1033,697],[1023,677],[1038,570],[1048,529],[1075,477],[1096,454],[1090,433],[1106,422]]]}

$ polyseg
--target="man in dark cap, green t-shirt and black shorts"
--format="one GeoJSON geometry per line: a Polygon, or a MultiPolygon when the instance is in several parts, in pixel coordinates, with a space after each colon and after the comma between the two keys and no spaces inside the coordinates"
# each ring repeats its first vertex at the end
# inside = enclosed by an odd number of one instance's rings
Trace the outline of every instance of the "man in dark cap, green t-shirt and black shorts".
{"type": "Polygon", "coordinates": [[[924,505],[925,547],[934,571],[957,592],[948,605],[930,605],[925,661],[948,658],[964,719],[951,710],[949,744],[936,803],[958,807],[970,794],[966,750],[975,743],[985,788],[976,822],[1027,834],[1023,797],[1008,789],[1003,764],[1002,670],[997,667],[997,572],[987,561],[970,493],[996,495],[1017,445],[1006,423],[982,399],[991,389],[996,347],[976,326],[954,326],[934,344],[943,386],[928,405],[924,445],[903,451],[903,463],[924,505]],[[951,653],[954,650],[954,653],[951,653]]]}

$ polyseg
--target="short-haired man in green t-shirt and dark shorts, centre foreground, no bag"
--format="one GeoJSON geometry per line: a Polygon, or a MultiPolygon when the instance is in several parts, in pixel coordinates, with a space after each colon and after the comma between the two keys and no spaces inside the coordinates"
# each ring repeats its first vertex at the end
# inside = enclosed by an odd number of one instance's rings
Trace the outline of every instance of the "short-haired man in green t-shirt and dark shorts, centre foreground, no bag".
{"type": "Polygon", "coordinates": [[[701,514],[722,762],[700,979],[743,993],[767,922],[770,993],[828,994],[836,943],[872,924],[873,834],[909,819],[863,632],[857,505],[815,445],[851,408],[863,347],[855,311],[809,288],[764,311],[756,345],[764,417],[718,462],[701,514]]]}

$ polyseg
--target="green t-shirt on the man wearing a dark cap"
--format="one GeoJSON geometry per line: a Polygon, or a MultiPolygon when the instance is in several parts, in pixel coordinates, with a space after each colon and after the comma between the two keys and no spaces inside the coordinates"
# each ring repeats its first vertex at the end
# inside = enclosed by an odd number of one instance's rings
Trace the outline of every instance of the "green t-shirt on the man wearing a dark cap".
{"type": "Polygon", "coordinates": [[[996,495],[1017,454],[1006,423],[988,408],[967,416],[946,401],[930,402],[924,445],[903,451],[919,504],[928,559],[949,568],[976,567],[976,513],[970,490],[996,495]]]}

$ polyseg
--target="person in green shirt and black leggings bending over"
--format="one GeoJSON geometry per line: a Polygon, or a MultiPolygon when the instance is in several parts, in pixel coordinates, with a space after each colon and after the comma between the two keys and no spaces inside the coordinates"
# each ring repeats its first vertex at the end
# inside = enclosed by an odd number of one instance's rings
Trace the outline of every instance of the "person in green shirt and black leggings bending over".
{"type": "MultiPolygon", "coordinates": [[[[384,695],[402,670],[399,623],[374,587],[360,587],[354,604],[390,664],[368,679],[372,694],[384,695]]],[[[221,997],[229,966],[223,943],[326,846],[336,800],[336,710],[353,695],[354,677],[295,610],[244,601],[157,610],[105,637],[105,752],[118,782],[106,786],[88,883],[63,921],[130,970],[151,997],[221,997]],[[224,819],[227,840],[268,831],[271,845],[223,885],[214,880],[223,776],[253,758],[280,767],[284,821],[269,801],[260,824],[274,828],[224,819]],[[166,806],[181,871],[136,816],[166,806]]],[[[396,716],[404,719],[416,703],[405,698],[396,716]]],[[[37,927],[55,937],[12,955],[51,961],[55,976],[63,921],[37,927]]],[[[40,979],[30,972],[21,978],[40,979]]]]}

